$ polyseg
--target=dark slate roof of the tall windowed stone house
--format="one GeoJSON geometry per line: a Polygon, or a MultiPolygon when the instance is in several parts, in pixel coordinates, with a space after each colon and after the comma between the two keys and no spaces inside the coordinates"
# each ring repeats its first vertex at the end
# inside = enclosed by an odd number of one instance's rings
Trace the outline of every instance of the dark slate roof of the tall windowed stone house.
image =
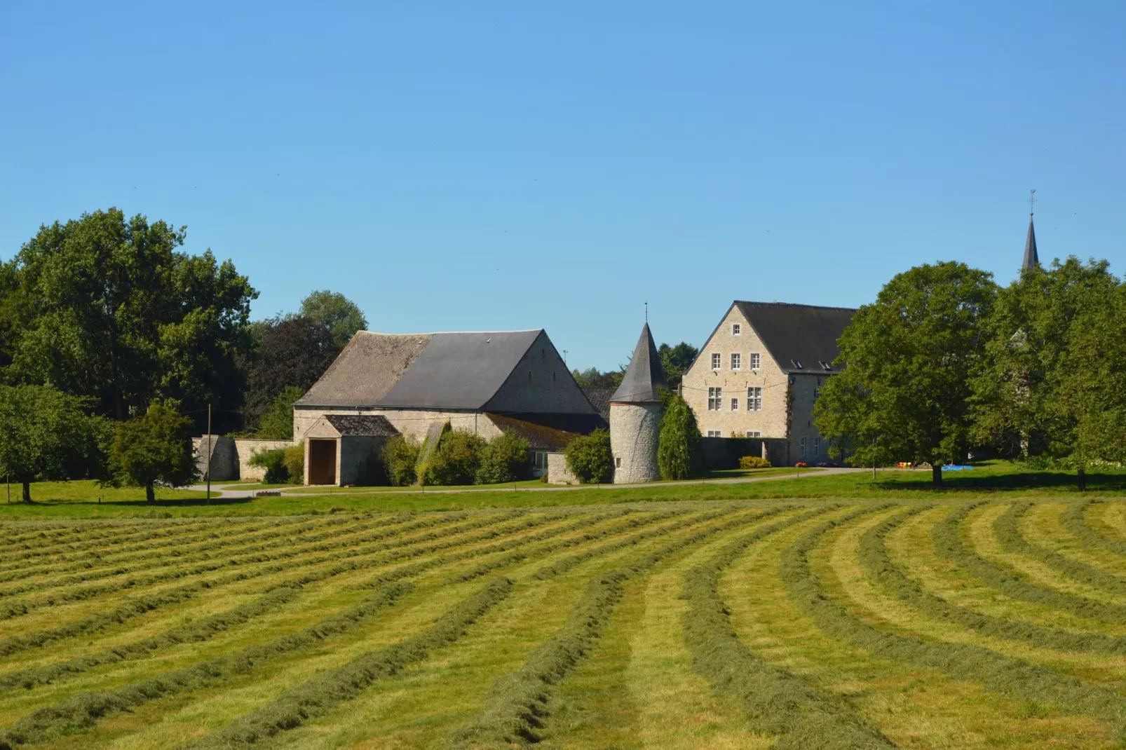
{"type": "Polygon", "coordinates": [[[786,302],[734,303],[770,356],[787,373],[839,373],[825,369],[840,354],[837,339],[852,322],[851,307],[820,307],[786,302]],[[795,363],[799,363],[798,367],[795,363]]]}

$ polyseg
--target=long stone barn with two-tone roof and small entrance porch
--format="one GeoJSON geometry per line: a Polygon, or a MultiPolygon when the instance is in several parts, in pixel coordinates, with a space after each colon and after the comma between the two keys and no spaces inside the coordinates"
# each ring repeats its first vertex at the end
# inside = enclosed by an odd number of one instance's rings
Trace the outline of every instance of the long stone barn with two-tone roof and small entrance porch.
{"type": "Polygon", "coordinates": [[[542,329],[359,331],[293,410],[306,484],[352,483],[387,437],[432,444],[446,422],[527,438],[537,474],[575,434],[606,426],[542,329]]]}

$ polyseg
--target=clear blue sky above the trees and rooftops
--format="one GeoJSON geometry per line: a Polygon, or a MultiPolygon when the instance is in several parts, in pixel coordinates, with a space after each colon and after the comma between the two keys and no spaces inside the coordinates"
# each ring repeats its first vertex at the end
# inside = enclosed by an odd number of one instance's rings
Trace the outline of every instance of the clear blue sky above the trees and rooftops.
{"type": "Polygon", "coordinates": [[[118,206],[232,258],[256,316],[546,328],[870,301],[958,259],[1126,266],[1126,5],[5,3],[0,258],[118,206]]]}

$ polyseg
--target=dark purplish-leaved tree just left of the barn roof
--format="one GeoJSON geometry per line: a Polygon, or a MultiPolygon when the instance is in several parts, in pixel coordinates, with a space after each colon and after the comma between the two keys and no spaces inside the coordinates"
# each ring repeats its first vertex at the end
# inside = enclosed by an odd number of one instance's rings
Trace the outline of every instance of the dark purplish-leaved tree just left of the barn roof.
{"type": "Polygon", "coordinates": [[[327,325],[301,315],[271,318],[247,365],[245,416],[251,426],[287,386],[307,391],[340,352],[327,325]]]}

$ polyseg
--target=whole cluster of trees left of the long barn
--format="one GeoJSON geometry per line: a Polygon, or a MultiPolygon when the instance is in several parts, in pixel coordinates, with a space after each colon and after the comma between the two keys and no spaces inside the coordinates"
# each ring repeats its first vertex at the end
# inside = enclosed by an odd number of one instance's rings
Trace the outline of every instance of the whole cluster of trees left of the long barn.
{"type": "Polygon", "coordinates": [[[343,295],[250,320],[231,260],[117,208],[43,225],[0,264],[0,475],[146,488],[195,477],[190,436],[292,437],[292,404],[359,329],[343,295]]]}

